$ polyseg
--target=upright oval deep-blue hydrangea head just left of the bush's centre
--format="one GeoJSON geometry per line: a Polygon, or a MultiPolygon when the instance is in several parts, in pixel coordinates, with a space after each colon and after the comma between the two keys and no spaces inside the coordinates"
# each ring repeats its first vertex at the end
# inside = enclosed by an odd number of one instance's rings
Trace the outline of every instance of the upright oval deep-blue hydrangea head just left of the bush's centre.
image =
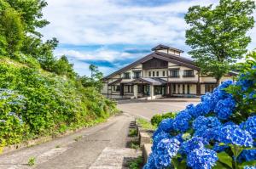
{"type": "Polygon", "coordinates": [[[180,132],[187,131],[189,129],[189,121],[191,118],[192,117],[189,115],[188,111],[181,111],[172,122],[173,129],[180,132]]]}

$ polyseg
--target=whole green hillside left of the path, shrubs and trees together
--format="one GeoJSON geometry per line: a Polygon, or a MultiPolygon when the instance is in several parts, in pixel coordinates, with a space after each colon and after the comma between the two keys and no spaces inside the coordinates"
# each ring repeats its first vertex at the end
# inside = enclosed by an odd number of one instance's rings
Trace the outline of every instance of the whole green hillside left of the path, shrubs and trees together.
{"type": "Polygon", "coordinates": [[[79,77],[66,56],[43,42],[41,0],[0,1],[0,148],[68,129],[91,126],[115,111],[98,91],[102,77],[79,77]],[[86,81],[84,81],[84,79],[86,81]]]}

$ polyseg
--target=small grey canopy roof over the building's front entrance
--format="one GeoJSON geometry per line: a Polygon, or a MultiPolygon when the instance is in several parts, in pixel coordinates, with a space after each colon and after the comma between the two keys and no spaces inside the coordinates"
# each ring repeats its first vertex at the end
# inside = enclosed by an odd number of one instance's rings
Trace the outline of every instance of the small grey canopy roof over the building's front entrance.
{"type": "Polygon", "coordinates": [[[154,86],[161,86],[165,85],[167,82],[161,78],[156,78],[156,77],[140,77],[135,79],[134,81],[129,82],[130,84],[137,84],[137,83],[146,83],[149,85],[154,85],[154,86]]]}

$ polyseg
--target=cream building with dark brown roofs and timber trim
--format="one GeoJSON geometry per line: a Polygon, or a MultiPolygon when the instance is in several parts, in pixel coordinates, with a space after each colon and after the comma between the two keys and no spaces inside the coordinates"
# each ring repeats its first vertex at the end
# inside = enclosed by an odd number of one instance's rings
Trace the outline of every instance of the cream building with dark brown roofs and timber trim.
{"type": "MultiPolygon", "coordinates": [[[[153,53],[104,77],[102,94],[110,99],[157,99],[193,97],[212,92],[217,86],[211,76],[201,76],[192,59],[181,56],[182,50],[158,45],[153,53]]],[[[234,80],[236,72],[220,82],[234,80]]]]}

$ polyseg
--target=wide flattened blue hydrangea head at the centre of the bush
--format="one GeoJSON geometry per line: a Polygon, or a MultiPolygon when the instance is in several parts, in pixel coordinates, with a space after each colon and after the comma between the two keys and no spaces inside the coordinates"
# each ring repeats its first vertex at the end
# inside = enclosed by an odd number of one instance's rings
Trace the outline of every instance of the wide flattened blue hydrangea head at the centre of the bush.
{"type": "Polygon", "coordinates": [[[221,126],[221,122],[218,121],[217,117],[205,117],[205,116],[199,116],[195,119],[193,122],[193,128],[195,130],[199,130],[202,127],[203,128],[213,128],[213,127],[219,127],[221,126]]]}

